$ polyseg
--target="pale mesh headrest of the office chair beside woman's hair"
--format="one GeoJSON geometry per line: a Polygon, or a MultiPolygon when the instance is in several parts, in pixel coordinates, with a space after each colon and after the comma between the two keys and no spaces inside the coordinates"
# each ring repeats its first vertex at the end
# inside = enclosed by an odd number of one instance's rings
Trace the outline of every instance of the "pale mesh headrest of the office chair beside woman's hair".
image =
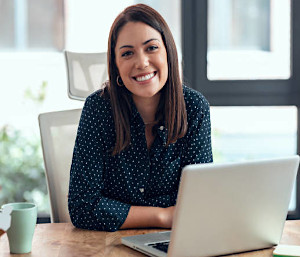
{"type": "Polygon", "coordinates": [[[108,79],[107,56],[104,53],[74,53],[65,51],[68,95],[84,101],[102,87],[108,79]]]}

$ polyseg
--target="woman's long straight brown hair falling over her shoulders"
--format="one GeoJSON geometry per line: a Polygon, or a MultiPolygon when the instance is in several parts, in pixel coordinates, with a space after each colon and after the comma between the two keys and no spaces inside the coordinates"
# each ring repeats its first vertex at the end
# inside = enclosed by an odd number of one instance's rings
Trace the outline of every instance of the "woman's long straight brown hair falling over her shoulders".
{"type": "Polygon", "coordinates": [[[187,114],[179,75],[176,45],[172,33],[162,18],[153,8],[137,4],[121,12],[111,26],[108,40],[108,73],[109,82],[104,94],[109,94],[116,130],[116,142],[113,155],[120,153],[130,144],[130,94],[126,87],[117,84],[119,71],[116,65],[115,47],[118,34],[128,22],[143,22],[157,30],[163,39],[167,51],[168,79],[161,90],[160,103],[156,120],[164,120],[168,131],[166,147],[185,135],[187,131],[187,114]]]}

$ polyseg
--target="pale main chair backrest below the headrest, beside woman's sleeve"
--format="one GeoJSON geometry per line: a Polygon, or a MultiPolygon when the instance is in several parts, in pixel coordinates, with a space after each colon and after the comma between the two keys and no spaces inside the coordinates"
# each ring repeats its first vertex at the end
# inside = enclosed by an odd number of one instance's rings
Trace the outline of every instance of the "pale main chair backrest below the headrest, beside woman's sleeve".
{"type": "Polygon", "coordinates": [[[68,189],[81,109],[42,113],[39,125],[50,196],[51,222],[70,222],[68,189]]]}

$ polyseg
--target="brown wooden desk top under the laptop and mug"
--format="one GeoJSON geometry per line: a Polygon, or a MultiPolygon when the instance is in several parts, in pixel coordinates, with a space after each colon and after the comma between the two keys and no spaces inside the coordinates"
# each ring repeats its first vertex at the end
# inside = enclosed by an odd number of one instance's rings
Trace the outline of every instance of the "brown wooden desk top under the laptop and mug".
{"type": "MultiPolygon", "coordinates": [[[[32,252],[11,255],[7,236],[0,238],[0,257],[76,257],[76,256],[144,256],[121,244],[122,236],[144,234],[158,230],[123,230],[118,232],[88,231],[74,228],[70,223],[39,224],[36,227],[32,252]]],[[[287,221],[282,244],[300,245],[300,220],[287,221]]],[[[253,251],[230,256],[270,257],[273,249],[253,251]]]]}

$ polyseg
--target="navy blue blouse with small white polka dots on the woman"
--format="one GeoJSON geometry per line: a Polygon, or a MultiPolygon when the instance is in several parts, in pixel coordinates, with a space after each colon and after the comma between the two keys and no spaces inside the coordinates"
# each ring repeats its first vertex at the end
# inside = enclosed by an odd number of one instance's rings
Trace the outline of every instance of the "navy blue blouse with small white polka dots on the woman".
{"type": "Polygon", "coordinates": [[[147,149],[143,120],[132,101],[131,144],[112,156],[115,127],[108,99],[90,95],[82,110],[74,147],[69,187],[69,213],[78,228],[115,231],[131,205],[169,207],[176,204],[185,165],[212,162],[209,103],[183,86],[188,131],[167,148],[166,129],[147,149]]]}

